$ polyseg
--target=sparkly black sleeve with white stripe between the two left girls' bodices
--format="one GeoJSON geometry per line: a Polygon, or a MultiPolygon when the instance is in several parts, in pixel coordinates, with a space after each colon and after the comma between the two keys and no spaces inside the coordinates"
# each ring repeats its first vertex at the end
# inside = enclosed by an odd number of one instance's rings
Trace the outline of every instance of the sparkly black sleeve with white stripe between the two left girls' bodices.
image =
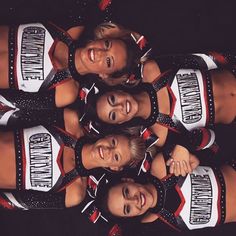
{"type": "Polygon", "coordinates": [[[1,128],[52,125],[62,119],[63,109],[56,108],[55,104],[55,89],[36,93],[0,89],[1,128]]]}

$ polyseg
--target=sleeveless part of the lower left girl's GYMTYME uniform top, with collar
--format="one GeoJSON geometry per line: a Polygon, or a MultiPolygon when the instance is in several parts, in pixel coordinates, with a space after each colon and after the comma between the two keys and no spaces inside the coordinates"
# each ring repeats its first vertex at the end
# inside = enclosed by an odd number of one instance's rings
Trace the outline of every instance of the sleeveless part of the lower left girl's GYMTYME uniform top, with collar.
{"type": "Polygon", "coordinates": [[[60,128],[33,128],[15,131],[16,189],[57,192],[80,176],[87,176],[81,160],[85,138],[75,140],[60,128]],[[63,171],[63,148],[75,150],[75,168],[63,171]]]}

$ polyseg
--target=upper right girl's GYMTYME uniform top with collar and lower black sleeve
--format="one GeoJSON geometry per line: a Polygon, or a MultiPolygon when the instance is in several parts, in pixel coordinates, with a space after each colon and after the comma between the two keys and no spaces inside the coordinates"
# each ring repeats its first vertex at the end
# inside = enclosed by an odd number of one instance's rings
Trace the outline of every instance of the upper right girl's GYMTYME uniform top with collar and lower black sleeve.
{"type": "Polygon", "coordinates": [[[208,129],[214,127],[214,103],[208,72],[172,70],[163,73],[154,83],[140,86],[149,95],[151,103],[151,114],[143,125],[151,127],[158,123],[167,127],[167,144],[184,144],[193,150],[214,143],[214,132],[208,129]],[[158,109],[156,92],[163,87],[168,90],[170,115],[160,113],[158,109]]]}

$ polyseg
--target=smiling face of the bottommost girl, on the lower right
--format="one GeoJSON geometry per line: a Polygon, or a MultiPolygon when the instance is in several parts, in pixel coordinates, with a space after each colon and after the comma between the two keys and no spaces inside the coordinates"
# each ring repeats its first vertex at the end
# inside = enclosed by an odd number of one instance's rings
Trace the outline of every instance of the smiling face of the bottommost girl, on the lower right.
{"type": "Polygon", "coordinates": [[[108,193],[108,210],[118,217],[142,215],[155,203],[155,196],[147,185],[135,183],[131,179],[112,187],[108,193]]]}

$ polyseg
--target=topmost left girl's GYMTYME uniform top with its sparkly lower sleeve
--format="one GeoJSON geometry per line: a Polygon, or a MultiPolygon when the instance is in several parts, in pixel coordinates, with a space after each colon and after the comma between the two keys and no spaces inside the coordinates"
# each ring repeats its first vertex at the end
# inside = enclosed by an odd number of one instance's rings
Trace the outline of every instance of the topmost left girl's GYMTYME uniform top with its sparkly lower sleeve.
{"type": "Polygon", "coordinates": [[[81,82],[75,68],[78,43],[52,23],[29,23],[9,29],[9,87],[0,89],[0,126],[32,127],[57,123],[55,87],[68,79],[81,82]],[[68,68],[58,70],[51,54],[55,45],[69,48],[68,68]],[[42,113],[48,114],[45,118],[42,113]]]}

